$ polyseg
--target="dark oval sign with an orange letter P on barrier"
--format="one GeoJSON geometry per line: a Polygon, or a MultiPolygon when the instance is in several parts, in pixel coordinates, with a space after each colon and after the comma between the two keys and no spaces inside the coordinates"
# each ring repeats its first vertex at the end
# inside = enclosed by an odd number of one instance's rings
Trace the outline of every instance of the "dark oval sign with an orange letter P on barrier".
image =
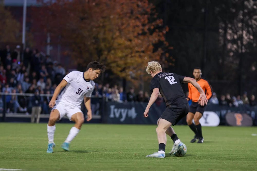
{"type": "Polygon", "coordinates": [[[232,126],[252,126],[253,119],[250,115],[229,112],[226,114],[226,122],[232,126]]]}

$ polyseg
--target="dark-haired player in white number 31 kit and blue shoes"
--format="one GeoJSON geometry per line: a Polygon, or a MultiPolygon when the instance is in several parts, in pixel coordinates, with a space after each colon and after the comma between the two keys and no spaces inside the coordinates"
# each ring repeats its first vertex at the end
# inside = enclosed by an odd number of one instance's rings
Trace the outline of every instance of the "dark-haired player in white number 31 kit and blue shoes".
{"type": "Polygon", "coordinates": [[[70,129],[65,142],[61,145],[61,148],[69,151],[71,140],[77,136],[82,124],[84,123],[84,114],[81,112],[81,103],[83,100],[88,111],[87,121],[91,120],[92,111],[90,106],[90,97],[95,87],[95,82],[93,80],[96,79],[104,70],[105,66],[103,64],[91,62],[88,64],[85,72],[70,72],[56,87],[53,97],[49,102],[49,107],[53,109],[50,113],[47,125],[47,153],[53,153],[53,147],[55,147],[53,141],[56,129],[55,123],[63,116],[67,116],[70,121],[75,122],[75,125],[70,129]]]}

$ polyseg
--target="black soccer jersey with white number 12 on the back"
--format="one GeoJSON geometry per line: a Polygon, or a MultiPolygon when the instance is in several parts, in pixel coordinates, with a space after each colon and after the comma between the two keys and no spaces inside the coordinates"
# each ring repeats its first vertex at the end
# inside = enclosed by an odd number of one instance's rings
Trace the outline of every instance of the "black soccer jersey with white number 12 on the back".
{"type": "Polygon", "coordinates": [[[184,78],[185,76],[175,73],[160,72],[152,78],[150,91],[152,92],[154,88],[159,88],[166,106],[172,105],[172,107],[176,107],[187,104],[187,99],[181,87],[184,78]]]}

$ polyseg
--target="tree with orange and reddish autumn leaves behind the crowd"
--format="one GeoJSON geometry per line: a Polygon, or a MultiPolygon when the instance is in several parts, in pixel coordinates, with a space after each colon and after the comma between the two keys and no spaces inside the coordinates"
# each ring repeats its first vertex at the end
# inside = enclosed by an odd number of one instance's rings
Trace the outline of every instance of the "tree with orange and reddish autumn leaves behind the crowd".
{"type": "Polygon", "coordinates": [[[77,63],[103,62],[130,81],[148,61],[160,61],[163,50],[154,44],[167,46],[168,28],[146,0],[57,0],[41,9],[44,28],[69,43],[77,63]]]}

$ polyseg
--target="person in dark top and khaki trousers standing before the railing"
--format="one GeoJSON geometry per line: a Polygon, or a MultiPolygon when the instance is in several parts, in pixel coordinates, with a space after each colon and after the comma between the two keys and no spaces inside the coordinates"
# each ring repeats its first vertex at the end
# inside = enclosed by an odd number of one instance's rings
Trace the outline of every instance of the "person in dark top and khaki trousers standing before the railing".
{"type": "Polygon", "coordinates": [[[41,97],[39,95],[38,90],[36,90],[34,96],[31,97],[31,103],[32,103],[31,122],[34,123],[35,116],[37,116],[36,123],[39,123],[40,113],[41,113],[41,97]]]}

